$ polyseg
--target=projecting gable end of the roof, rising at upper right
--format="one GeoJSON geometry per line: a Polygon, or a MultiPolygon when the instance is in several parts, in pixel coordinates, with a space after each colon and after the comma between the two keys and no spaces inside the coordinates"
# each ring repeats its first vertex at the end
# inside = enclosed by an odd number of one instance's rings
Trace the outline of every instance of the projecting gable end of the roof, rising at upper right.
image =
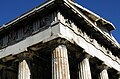
{"type": "MultiPolygon", "coordinates": [[[[104,26],[108,31],[115,30],[115,26],[105,20],[104,18],[100,17],[99,15],[93,13],[92,11],[82,7],[81,5],[70,1],[78,10],[80,10],[88,19],[90,19],[94,24],[97,22],[104,26]]],[[[99,26],[98,26],[99,27],[99,26]]]]}

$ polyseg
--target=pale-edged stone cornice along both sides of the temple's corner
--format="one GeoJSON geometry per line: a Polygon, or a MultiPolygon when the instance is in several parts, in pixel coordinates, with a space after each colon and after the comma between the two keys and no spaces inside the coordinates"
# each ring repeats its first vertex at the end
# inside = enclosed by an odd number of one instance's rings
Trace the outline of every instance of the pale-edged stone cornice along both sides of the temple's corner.
{"type": "MultiPolygon", "coordinates": [[[[15,26],[16,24],[20,23],[21,21],[26,20],[26,18],[34,16],[36,13],[40,13],[41,11],[50,8],[50,6],[55,6],[55,5],[57,5],[56,7],[58,9],[63,10],[63,12],[64,11],[65,12],[68,11],[67,12],[68,14],[71,14],[71,13],[74,14],[75,16],[73,16],[73,18],[75,19],[76,22],[79,23],[79,21],[82,19],[84,21],[84,23],[86,24],[86,27],[85,26],[84,27],[86,29],[89,29],[89,31],[91,32],[91,34],[93,34],[93,35],[95,34],[95,37],[97,39],[100,39],[101,42],[103,42],[105,45],[107,45],[107,47],[109,47],[111,50],[115,50],[115,51],[119,50],[120,51],[120,46],[117,45],[116,42],[110,36],[106,36],[98,27],[96,27],[96,25],[93,22],[91,22],[87,18],[87,16],[85,16],[82,13],[82,11],[80,11],[80,9],[78,9],[78,7],[75,7],[73,5],[73,3],[69,2],[68,0],[50,0],[50,1],[47,1],[43,5],[35,7],[31,11],[29,11],[29,12],[21,15],[20,17],[17,17],[16,19],[10,21],[9,23],[1,26],[1,28],[0,28],[0,34],[2,32],[4,32],[4,31],[6,31],[6,30],[14,28],[13,25],[15,26]]],[[[110,24],[110,23],[108,23],[108,24],[110,24]]],[[[119,51],[118,51],[118,53],[119,53],[119,51]]],[[[118,54],[117,52],[115,52],[115,53],[118,54]]]]}

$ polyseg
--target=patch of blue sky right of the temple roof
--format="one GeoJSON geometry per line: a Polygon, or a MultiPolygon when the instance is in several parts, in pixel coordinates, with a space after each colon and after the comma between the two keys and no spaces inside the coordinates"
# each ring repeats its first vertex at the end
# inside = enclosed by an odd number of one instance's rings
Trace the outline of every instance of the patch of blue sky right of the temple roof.
{"type": "Polygon", "coordinates": [[[120,0],[76,0],[80,5],[93,11],[116,27],[111,33],[120,43],[120,0]]]}

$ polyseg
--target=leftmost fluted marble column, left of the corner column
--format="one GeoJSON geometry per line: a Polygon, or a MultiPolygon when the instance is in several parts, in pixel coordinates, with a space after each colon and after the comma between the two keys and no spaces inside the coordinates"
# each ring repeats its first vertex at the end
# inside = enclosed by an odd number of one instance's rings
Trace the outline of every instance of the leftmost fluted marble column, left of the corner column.
{"type": "Polygon", "coordinates": [[[19,62],[18,79],[30,79],[30,68],[26,59],[19,62]]]}

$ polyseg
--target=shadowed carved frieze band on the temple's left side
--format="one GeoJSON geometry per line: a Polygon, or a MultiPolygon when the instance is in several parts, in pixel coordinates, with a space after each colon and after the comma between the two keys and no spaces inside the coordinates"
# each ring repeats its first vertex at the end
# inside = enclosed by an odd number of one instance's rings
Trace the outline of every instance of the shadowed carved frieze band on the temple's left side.
{"type": "Polygon", "coordinates": [[[37,17],[34,20],[26,21],[26,23],[19,25],[17,29],[8,31],[6,35],[0,37],[0,49],[15,44],[34,32],[41,30],[42,27],[50,26],[54,21],[53,18],[55,18],[55,13],[37,17]]]}

